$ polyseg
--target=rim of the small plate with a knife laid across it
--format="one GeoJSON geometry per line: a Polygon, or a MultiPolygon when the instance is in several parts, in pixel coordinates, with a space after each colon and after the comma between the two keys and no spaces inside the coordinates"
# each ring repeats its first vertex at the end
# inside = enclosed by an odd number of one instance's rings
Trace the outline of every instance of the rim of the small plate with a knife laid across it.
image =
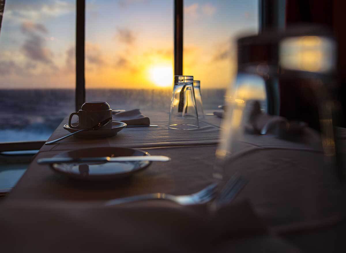
{"type": "MultiPolygon", "coordinates": [[[[139,151],[141,153],[143,153],[144,155],[146,156],[151,156],[151,154],[149,154],[147,151],[144,151],[144,150],[141,150],[141,149],[132,149],[132,148],[124,148],[124,147],[103,147],[103,148],[120,148],[120,149],[129,149],[129,150],[136,150],[136,151],[139,151]]],[[[74,149],[74,150],[69,150],[69,151],[63,151],[63,152],[60,152],[58,154],[56,154],[55,156],[53,157],[56,157],[57,155],[59,154],[64,154],[64,153],[67,153],[67,152],[71,152],[71,151],[81,151],[81,150],[86,150],[86,149],[99,149],[99,147],[93,147],[93,148],[83,148],[83,149],[74,149]]],[[[122,179],[122,178],[127,178],[127,177],[130,177],[144,169],[146,169],[147,167],[149,167],[151,164],[152,164],[152,161],[148,161],[148,164],[139,168],[139,169],[136,169],[136,170],[131,170],[131,171],[127,171],[127,172],[124,172],[124,173],[121,173],[121,174],[107,174],[107,175],[98,175],[98,176],[88,176],[88,177],[83,177],[83,176],[79,176],[78,174],[74,174],[74,173],[68,173],[68,172],[64,172],[62,170],[59,170],[59,169],[56,169],[54,167],[54,165],[57,164],[57,163],[53,163],[51,165],[49,165],[49,167],[57,172],[58,174],[61,174],[61,175],[64,175],[68,178],[73,178],[73,179],[78,179],[78,180],[82,180],[82,181],[107,181],[107,180],[116,180],[116,179],[122,179]],[[109,177],[109,178],[107,178],[109,177]]]]}

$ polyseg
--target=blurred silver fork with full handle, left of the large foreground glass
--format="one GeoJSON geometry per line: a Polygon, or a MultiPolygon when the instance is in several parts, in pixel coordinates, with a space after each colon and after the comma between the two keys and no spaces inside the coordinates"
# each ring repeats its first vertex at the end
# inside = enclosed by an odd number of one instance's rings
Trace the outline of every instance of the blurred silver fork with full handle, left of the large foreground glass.
{"type": "Polygon", "coordinates": [[[130,202],[152,200],[152,199],[166,199],[180,205],[193,205],[203,204],[212,200],[217,193],[217,184],[208,185],[203,190],[190,195],[171,195],[166,193],[150,193],[126,198],[116,198],[106,202],[105,206],[113,206],[118,204],[125,204],[130,202]]]}

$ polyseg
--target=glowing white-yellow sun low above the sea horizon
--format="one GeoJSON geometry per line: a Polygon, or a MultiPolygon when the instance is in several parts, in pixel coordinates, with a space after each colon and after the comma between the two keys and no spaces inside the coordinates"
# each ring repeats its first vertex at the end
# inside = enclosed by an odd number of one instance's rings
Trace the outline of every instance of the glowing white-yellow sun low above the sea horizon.
{"type": "Polygon", "coordinates": [[[170,65],[155,65],[149,69],[150,81],[159,87],[172,85],[173,69],[170,65]]]}

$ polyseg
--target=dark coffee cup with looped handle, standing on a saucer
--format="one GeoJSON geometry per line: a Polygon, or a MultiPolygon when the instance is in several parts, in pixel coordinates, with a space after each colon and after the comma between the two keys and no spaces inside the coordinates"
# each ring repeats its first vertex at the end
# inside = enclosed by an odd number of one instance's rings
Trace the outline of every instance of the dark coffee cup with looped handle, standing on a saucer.
{"type": "MultiPolygon", "coordinates": [[[[70,115],[69,127],[76,129],[89,129],[97,125],[98,123],[112,118],[112,109],[106,102],[85,102],[81,110],[73,112],[70,115]],[[77,115],[79,120],[78,124],[71,124],[72,116],[77,115]]],[[[108,122],[100,129],[111,129],[112,122],[108,122]]]]}

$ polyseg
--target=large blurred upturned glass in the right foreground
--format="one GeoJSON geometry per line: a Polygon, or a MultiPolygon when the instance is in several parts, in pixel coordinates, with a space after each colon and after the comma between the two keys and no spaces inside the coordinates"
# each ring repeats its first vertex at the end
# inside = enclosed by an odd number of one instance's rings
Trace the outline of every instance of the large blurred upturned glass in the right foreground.
{"type": "Polygon", "coordinates": [[[238,74],[227,92],[214,178],[225,183],[235,172],[261,167],[256,152],[266,148],[272,149],[268,159],[279,160],[283,149],[299,150],[292,164],[314,150],[320,166],[335,169],[336,42],[331,34],[304,27],[243,37],[237,46],[238,74]]]}

